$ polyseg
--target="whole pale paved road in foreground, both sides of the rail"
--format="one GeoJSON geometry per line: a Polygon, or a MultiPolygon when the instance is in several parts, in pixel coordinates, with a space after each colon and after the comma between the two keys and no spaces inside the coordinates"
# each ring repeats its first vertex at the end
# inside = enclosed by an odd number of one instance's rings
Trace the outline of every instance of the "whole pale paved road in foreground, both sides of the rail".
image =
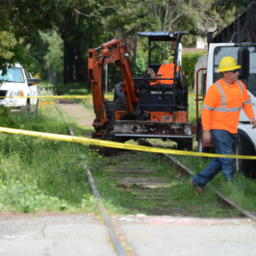
{"type": "MultiPolygon", "coordinates": [[[[248,219],[115,216],[129,255],[254,256],[256,224],[248,219]]],[[[0,255],[116,255],[93,215],[0,215],[0,255]]]]}

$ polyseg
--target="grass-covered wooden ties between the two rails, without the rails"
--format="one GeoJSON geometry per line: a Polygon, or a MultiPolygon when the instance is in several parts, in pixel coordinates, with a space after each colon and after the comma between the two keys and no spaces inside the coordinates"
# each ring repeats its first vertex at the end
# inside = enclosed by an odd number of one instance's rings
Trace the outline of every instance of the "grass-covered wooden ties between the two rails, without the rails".
{"type": "Polygon", "coordinates": [[[175,167],[163,171],[159,156],[152,154],[152,157],[159,165],[148,162],[148,157],[141,152],[122,152],[107,158],[109,182],[132,198],[130,210],[154,216],[200,216],[201,210],[196,204],[184,200],[182,191],[174,192],[184,187],[181,184],[188,180],[188,176],[181,175],[175,167]],[[168,175],[168,172],[172,174],[168,175]]]}

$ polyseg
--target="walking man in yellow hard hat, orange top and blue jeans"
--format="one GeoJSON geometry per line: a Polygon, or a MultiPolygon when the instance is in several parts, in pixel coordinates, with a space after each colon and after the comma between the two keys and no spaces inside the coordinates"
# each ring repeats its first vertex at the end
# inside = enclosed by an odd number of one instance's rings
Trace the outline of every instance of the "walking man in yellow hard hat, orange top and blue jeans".
{"type": "MultiPolygon", "coordinates": [[[[201,113],[203,141],[213,141],[217,154],[233,154],[242,109],[249,118],[252,128],[256,128],[250,97],[243,82],[238,80],[240,68],[241,65],[236,64],[234,58],[222,58],[217,70],[222,74],[222,78],[207,90],[204,98],[201,113]]],[[[225,180],[232,181],[236,173],[235,160],[215,158],[209,166],[194,176],[190,183],[197,196],[220,170],[225,180]]]]}

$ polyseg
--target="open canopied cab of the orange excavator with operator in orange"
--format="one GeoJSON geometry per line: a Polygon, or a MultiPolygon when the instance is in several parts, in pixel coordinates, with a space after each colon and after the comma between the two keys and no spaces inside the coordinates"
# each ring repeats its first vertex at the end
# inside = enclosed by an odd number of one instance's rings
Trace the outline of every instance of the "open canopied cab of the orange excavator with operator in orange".
{"type": "MultiPolygon", "coordinates": [[[[178,83],[183,87],[181,79],[180,39],[187,32],[138,32],[135,38],[133,79],[136,84],[148,85],[147,77],[140,77],[140,63],[146,70],[152,70],[155,76],[154,85],[171,85],[178,83]],[[147,54],[146,54],[147,53],[147,54]],[[141,60],[142,58],[144,60],[141,60]],[[166,68],[163,68],[166,66],[166,68]],[[168,69],[169,68],[169,73],[168,69]],[[139,70],[138,70],[139,69],[139,70]],[[163,70],[166,72],[163,73],[163,70]],[[141,82],[141,83],[140,83],[141,82]]],[[[147,74],[148,72],[146,72],[147,74]]],[[[150,84],[150,82],[149,82],[150,84]]]]}

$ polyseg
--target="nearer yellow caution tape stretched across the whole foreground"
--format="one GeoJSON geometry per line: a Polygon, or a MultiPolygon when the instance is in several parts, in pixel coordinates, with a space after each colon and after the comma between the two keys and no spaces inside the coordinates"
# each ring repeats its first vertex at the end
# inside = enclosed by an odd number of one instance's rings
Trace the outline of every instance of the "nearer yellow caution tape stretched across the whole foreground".
{"type": "Polygon", "coordinates": [[[95,140],[95,139],[68,136],[68,135],[41,133],[41,132],[6,128],[6,127],[0,127],[0,132],[9,133],[9,134],[17,134],[17,135],[25,135],[25,136],[30,136],[30,137],[37,137],[37,138],[43,138],[43,139],[48,139],[48,140],[84,143],[84,144],[90,144],[90,145],[95,145],[95,146],[106,146],[106,147],[112,147],[112,148],[144,151],[144,152],[151,152],[151,153],[166,153],[166,154],[171,154],[171,155],[195,156],[195,157],[211,157],[211,158],[221,157],[221,158],[238,158],[238,159],[256,160],[256,156],[235,156],[235,155],[199,153],[199,152],[192,152],[192,151],[183,151],[183,150],[142,146],[142,145],[137,145],[137,144],[128,144],[128,143],[121,143],[121,142],[115,142],[115,141],[95,140]]]}

